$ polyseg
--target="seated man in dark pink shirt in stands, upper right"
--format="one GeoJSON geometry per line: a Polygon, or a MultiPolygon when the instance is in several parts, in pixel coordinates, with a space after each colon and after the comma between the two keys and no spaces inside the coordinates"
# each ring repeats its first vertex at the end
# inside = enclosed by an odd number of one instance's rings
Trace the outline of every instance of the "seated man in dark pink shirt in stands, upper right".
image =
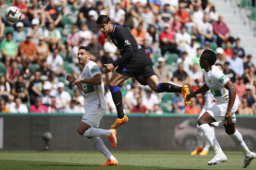
{"type": "Polygon", "coordinates": [[[222,42],[233,42],[230,37],[229,27],[223,22],[223,16],[219,15],[218,21],[212,23],[213,32],[217,36],[217,45],[221,47],[222,42]]]}

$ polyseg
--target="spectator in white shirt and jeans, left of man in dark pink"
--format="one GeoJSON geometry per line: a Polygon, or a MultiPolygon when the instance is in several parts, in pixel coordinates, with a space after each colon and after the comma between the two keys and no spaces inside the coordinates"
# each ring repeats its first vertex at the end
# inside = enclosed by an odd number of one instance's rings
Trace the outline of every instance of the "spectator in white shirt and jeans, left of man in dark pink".
{"type": "Polygon", "coordinates": [[[211,41],[216,43],[217,37],[213,34],[213,29],[211,24],[209,23],[209,14],[205,14],[203,18],[203,22],[198,23],[197,25],[197,38],[201,43],[201,47],[205,46],[206,41],[211,41]]]}

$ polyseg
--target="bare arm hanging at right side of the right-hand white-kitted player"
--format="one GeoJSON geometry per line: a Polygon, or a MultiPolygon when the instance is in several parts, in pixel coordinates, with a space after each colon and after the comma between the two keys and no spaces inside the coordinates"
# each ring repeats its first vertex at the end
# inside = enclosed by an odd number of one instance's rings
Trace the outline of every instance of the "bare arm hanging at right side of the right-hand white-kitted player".
{"type": "Polygon", "coordinates": [[[231,110],[233,108],[235,98],[236,98],[236,88],[230,80],[226,83],[225,88],[228,89],[229,91],[229,103],[228,103],[228,109],[225,115],[225,125],[227,126],[232,124],[231,110]]]}

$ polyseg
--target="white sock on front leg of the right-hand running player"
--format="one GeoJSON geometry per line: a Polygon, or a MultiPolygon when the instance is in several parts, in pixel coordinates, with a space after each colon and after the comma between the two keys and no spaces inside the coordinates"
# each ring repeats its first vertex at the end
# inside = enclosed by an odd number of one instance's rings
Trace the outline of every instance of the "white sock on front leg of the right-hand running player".
{"type": "Polygon", "coordinates": [[[220,147],[220,144],[215,137],[214,131],[210,128],[209,124],[203,124],[200,126],[200,128],[204,131],[204,134],[206,135],[210,146],[215,151],[215,154],[224,154],[220,147]]]}

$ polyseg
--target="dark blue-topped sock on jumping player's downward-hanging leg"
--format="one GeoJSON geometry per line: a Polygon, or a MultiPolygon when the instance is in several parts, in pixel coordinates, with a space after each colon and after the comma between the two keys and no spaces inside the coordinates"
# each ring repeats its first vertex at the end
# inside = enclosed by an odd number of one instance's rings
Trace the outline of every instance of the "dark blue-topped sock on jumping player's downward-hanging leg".
{"type": "Polygon", "coordinates": [[[123,118],[124,113],[122,108],[122,96],[121,96],[120,88],[119,86],[110,86],[109,89],[118,111],[118,118],[121,119],[123,118]]]}

